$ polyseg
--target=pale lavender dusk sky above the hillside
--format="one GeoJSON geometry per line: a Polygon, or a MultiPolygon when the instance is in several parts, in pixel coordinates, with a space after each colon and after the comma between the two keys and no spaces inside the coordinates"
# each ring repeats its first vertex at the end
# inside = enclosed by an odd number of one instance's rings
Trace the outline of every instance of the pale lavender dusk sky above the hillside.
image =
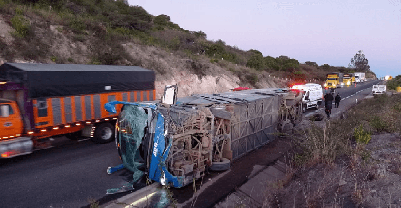
{"type": "Polygon", "coordinates": [[[208,40],[263,56],[345,66],[359,50],[378,77],[401,74],[401,0],[128,0],[208,40]]]}

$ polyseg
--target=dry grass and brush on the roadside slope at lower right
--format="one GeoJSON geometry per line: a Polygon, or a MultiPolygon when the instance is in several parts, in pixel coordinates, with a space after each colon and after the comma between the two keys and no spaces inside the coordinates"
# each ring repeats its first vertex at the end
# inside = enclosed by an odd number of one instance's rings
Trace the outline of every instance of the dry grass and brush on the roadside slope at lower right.
{"type": "MultiPolygon", "coordinates": [[[[325,120],[321,126],[310,123],[298,137],[302,153],[295,154],[287,162],[296,164],[291,166],[292,180],[284,183],[282,188],[266,187],[271,191],[266,192],[263,207],[342,208],[344,203],[364,207],[369,203],[367,198],[372,200],[372,193],[376,192],[371,190],[370,184],[386,180],[389,169],[372,159],[372,150],[366,150],[366,142],[370,140],[355,139],[354,129],[366,135],[399,131],[400,101],[400,94],[378,96],[353,106],[342,119],[325,120]],[[379,124],[381,128],[378,128],[379,124]]],[[[391,164],[392,173],[401,174],[401,156],[384,156],[386,151],[383,149],[386,148],[386,145],[377,147],[383,152],[380,158],[391,164]]],[[[391,203],[383,201],[382,206],[395,206],[391,203]]]]}

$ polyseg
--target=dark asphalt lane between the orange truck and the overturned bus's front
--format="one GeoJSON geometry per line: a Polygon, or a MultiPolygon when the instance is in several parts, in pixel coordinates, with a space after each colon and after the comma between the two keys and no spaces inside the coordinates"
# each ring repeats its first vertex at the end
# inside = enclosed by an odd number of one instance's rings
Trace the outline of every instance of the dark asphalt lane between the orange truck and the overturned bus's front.
{"type": "Polygon", "coordinates": [[[80,208],[90,199],[102,204],[131,192],[107,195],[132,178],[127,170],[108,175],[120,164],[115,143],[56,140],[53,148],[1,160],[1,208],[80,208]]]}

